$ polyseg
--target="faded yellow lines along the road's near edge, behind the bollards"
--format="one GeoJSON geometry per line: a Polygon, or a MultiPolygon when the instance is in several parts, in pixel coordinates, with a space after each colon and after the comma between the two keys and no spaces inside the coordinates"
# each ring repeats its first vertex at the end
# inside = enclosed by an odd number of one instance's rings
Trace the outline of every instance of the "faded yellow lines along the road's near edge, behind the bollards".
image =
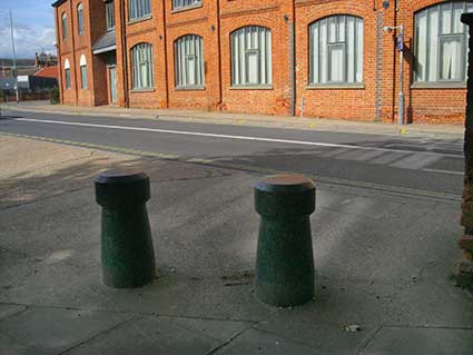
{"type": "MultiPolygon", "coordinates": [[[[43,140],[49,142],[58,142],[58,144],[66,144],[70,146],[79,146],[79,147],[88,147],[88,148],[95,148],[99,150],[106,150],[106,151],[114,151],[114,152],[125,152],[128,155],[135,155],[135,156],[141,156],[141,157],[157,157],[161,158],[164,160],[174,160],[174,161],[180,161],[180,162],[189,162],[189,164],[197,164],[203,166],[210,166],[210,167],[217,167],[217,168],[230,168],[236,170],[245,170],[245,171],[252,171],[252,172],[258,172],[263,175],[278,175],[278,174],[290,174],[292,171],[286,170],[278,170],[278,169],[270,169],[270,168],[259,168],[259,167],[253,167],[253,166],[245,166],[245,165],[238,165],[238,164],[231,164],[231,162],[225,162],[225,161],[218,161],[218,160],[209,160],[208,162],[203,161],[196,161],[194,158],[181,158],[177,155],[168,155],[168,154],[160,154],[160,152],[147,152],[144,150],[138,149],[128,149],[117,146],[106,146],[106,145],[97,145],[97,144],[87,144],[81,141],[73,141],[73,140],[58,140],[56,138],[48,138],[48,137],[40,137],[40,136],[28,136],[28,135],[19,135],[19,134],[11,134],[11,132],[1,132],[0,135],[6,136],[13,136],[13,137],[21,137],[21,138],[28,138],[28,139],[37,139],[37,140],[43,140]],[[128,151],[128,152],[127,152],[128,151]]],[[[396,196],[421,196],[421,197],[427,197],[427,198],[436,198],[442,200],[453,200],[453,201],[461,201],[461,196],[456,196],[453,194],[442,194],[442,193],[435,193],[435,191],[427,191],[427,190],[420,190],[420,189],[412,189],[412,188],[405,188],[405,187],[394,187],[394,186],[386,186],[381,184],[373,184],[373,183],[363,183],[363,181],[355,181],[355,180],[346,180],[341,178],[332,178],[332,177],[322,177],[316,175],[307,175],[308,177],[316,180],[316,183],[328,185],[328,186],[337,186],[337,185],[344,185],[348,187],[358,187],[358,188],[367,188],[367,189],[376,189],[381,190],[383,193],[387,194],[395,194],[396,196]]]]}

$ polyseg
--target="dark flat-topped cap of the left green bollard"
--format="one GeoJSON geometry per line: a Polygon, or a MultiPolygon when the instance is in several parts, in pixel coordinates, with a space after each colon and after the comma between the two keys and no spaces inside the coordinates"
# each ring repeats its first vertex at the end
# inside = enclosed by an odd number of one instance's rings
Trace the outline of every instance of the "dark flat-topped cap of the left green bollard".
{"type": "Polygon", "coordinates": [[[150,198],[149,177],[136,170],[109,170],[93,180],[97,204],[122,208],[145,204],[150,198]]]}

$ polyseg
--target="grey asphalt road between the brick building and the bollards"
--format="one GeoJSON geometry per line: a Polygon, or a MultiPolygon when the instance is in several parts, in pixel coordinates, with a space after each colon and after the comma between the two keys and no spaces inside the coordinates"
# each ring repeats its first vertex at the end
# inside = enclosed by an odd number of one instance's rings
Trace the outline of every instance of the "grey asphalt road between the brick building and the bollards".
{"type": "Polygon", "coordinates": [[[294,171],[321,184],[397,195],[457,200],[463,189],[460,139],[13,111],[2,115],[0,132],[7,134],[170,155],[263,174],[294,171]]]}

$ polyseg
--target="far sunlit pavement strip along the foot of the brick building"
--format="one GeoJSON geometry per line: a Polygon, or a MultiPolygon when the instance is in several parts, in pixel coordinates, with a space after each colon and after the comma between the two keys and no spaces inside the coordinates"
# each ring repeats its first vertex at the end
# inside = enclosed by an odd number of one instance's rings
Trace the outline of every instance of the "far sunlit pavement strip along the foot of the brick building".
{"type": "Polygon", "coordinates": [[[249,127],[290,128],[315,131],[358,132],[372,135],[410,135],[428,136],[438,138],[457,139],[463,138],[464,127],[460,125],[424,125],[413,124],[397,126],[386,122],[365,122],[341,119],[322,119],[309,117],[265,116],[250,114],[230,114],[179,109],[137,109],[119,108],[114,106],[100,107],[72,107],[61,105],[49,105],[46,101],[3,103],[8,110],[23,112],[49,112],[63,115],[86,115],[122,118],[148,118],[167,121],[201,122],[217,125],[237,125],[249,127]]]}

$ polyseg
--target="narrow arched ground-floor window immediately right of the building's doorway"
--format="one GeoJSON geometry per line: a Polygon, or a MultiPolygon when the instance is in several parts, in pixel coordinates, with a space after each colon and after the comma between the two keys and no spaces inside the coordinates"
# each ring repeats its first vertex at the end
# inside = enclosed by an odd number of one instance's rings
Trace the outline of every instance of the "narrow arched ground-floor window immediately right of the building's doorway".
{"type": "Polygon", "coordinates": [[[154,86],[152,46],[140,43],[131,48],[131,85],[134,89],[154,86]]]}

